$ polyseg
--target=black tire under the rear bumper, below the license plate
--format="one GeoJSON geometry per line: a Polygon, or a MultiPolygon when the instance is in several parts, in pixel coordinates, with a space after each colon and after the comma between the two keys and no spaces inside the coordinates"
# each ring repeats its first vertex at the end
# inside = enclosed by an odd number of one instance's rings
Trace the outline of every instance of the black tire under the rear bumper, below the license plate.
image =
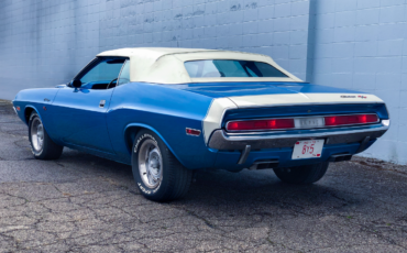
{"type": "Polygon", "coordinates": [[[308,185],[321,179],[326,174],[329,162],[323,162],[289,168],[274,168],[274,173],[284,183],[308,185]]]}

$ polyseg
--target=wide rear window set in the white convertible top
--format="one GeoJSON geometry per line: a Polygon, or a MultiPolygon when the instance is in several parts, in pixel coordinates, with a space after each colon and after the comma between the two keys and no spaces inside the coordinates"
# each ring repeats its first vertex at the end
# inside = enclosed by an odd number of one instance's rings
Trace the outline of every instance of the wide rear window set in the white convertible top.
{"type": "Polygon", "coordinates": [[[270,64],[237,59],[185,62],[190,78],[205,77],[288,77],[270,64]]]}

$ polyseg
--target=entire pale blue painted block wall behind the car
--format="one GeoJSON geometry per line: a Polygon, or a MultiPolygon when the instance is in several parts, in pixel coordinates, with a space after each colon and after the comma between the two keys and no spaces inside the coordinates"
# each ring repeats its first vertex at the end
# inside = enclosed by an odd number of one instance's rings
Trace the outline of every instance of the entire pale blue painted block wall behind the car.
{"type": "Polygon", "coordinates": [[[392,129],[363,155],[407,163],[407,0],[1,0],[0,98],[64,84],[131,46],[271,55],[318,85],[373,92],[392,129]]]}

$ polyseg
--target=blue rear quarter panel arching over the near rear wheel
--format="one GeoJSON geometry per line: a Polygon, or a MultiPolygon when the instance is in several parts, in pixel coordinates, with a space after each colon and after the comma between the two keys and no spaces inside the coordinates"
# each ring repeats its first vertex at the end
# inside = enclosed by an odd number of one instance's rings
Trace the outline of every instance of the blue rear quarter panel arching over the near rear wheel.
{"type": "Polygon", "coordinates": [[[116,153],[130,164],[131,151],[124,132],[129,127],[141,127],[156,132],[184,166],[212,167],[217,153],[207,147],[204,134],[186,134],[186,128],[202,131],[202,120],[211,101],[211,97],[170,85],[130,82],[117,87],[107,116],[116,153]]]}

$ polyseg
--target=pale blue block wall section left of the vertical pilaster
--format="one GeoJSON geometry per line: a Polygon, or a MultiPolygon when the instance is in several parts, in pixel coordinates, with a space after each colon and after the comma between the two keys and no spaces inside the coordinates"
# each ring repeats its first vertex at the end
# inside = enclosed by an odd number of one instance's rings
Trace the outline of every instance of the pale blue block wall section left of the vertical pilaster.
{"type": "MultiPolygon", "coordinates": [[[[119,47],[276,52],[290,66],[307,59],[308,13],[308,0],[4,0],[0,98],[67,82],[97,53],[119,47]]],[[[306,66],[293,65],[305,79],[306,66]]]]}

